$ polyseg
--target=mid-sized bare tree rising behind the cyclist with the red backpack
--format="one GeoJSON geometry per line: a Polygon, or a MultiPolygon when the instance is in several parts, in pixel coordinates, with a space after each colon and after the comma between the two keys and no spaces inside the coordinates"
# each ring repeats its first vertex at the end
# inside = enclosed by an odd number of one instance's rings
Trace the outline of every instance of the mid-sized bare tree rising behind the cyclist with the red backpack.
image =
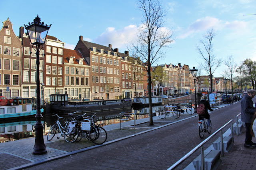
{"type": "Polygon", "coordinates": [[[212,40],[216,36],[216,31],[214,29],[208,29],[206,34],[203,35],[203,39],[199,40],[199,43],[196,44],[196,48],[200,57],[204,60],[202,63],[199,63],[209,75],[210,75],[210,86],[212,92],[212,75],[214,71],[222,63],[222,59],[216,59],[216,56],[213,54],[213,43],[212,40]]]}

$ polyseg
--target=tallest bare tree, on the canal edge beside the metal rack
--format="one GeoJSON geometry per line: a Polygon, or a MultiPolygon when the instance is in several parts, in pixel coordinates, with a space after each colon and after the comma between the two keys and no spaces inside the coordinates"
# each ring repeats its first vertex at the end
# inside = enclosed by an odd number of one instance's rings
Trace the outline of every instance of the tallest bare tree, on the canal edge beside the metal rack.
{"type": "Polygon", "coordinates": [[[166,54],[164,47],[169,47],[172,39],[172,30],[164,28],[164,10],[160,0],[138,0],[138,8],[142,12],[142,24],[139,26],[137,39],[129,42],[129,51],[132,56],[138,57],[138,63],[141,60],[142,66],[148,72],[148,98],[149,98],[149,125],[153,124],[152,117],[152,98],[151,98],[151,65],[161,59],[166,54]]]}

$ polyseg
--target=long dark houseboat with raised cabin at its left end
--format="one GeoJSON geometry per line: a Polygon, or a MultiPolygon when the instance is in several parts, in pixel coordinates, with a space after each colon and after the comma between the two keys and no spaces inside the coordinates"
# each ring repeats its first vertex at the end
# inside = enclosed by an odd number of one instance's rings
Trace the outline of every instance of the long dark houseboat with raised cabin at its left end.
{"type": "Polygon", "coordinates": [[[46,106],[47,113],[72,113],[82,111],[83,113],[110,111],[115,109],[125,109],[132,106],[132,100],[93,100],[93,101],[76,101],[69,102],[68,94],[51,94],[50,106],[46,106]],[[50,108],[49,108],[50,107],[50,108]],[[49,108],[49,109],[48,109],[49,108]]]}

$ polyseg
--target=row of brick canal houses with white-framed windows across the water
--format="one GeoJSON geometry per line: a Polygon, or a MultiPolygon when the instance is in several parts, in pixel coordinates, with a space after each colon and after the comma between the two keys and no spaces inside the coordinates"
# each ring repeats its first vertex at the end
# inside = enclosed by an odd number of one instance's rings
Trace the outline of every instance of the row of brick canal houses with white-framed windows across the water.
{"type": "MultiPolygon", "coordinates": [[[[0,30],[0,96],[36,97],[35,49],[24,33],[24,27],[20,27],[17,37],[12,26],[8,18],[0,30]]],[[[148,95],[147,74],[142,66],[129,62],[128,51],[120,53],[111,44],[107,47],[91,43],[84,41],[82,36],[74,50],[65,49],[64,46],[64,42],[48,35],[40,50],[42,99],[49,100],[50,94],[68,94],[70,100],[148,95]]],[[[160,92],[157,92],[158,88],[152,88],[153,95],[193,92],[194,81],[188,65],[161,66],[166,76],[160,92]]],[[[215,82],[214,86],[220,82],[215,82]]],[[[204,89],[196,80],[196,90],[201,88],[204,89]]],[[[205,89],[209,90],[209,85],[205,89]]]]}

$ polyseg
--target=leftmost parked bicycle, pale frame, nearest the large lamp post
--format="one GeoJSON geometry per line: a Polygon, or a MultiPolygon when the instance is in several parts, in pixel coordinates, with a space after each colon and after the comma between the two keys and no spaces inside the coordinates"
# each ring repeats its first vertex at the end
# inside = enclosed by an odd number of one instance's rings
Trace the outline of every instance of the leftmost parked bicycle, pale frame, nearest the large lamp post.
{"type": "MultiPolygon", "coordinates": [[[[76,111],[74,113],[77,113],[77,112],[78,111],[76,111]]],[[[67,131],[67,127],[68,127],[69,123],[71,122],[70,119],[65,119],[63,117],[58,116],[57,114],[53,114],[53,116],[57,116],[58,120],[56,121],[56,123],[54,123],[54,125],[52,125],[52,127],[50,128],[50,131],[48,132],[48,135],[47,135],[47,140],[48,141],[51,141],[56,133],[60,133],[60,136],[57,137],[57,139],[60,139],[60,137],[64,137],[64,135],[68,135],[66,133],[66,131],[67,131]],[[64,119],[65,120],[63,125],[61,125],[60,119],[64,119]]]]}

